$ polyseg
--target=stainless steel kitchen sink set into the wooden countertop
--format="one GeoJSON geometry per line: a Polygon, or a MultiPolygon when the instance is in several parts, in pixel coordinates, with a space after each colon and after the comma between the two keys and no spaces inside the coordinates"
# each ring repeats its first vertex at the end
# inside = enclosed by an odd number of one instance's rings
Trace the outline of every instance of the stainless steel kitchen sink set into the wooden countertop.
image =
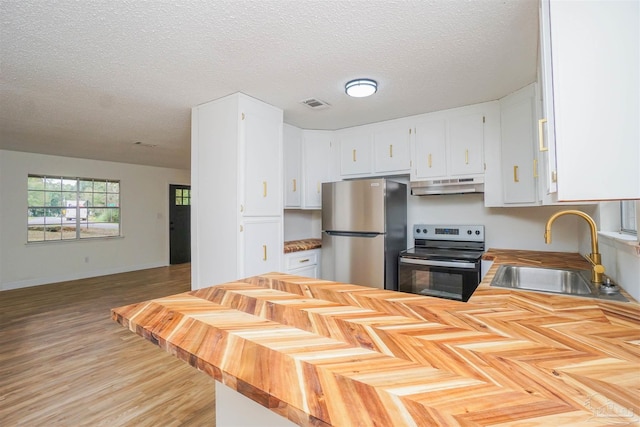
{"type": "Polygon", "coordinates": [[[501,265],[491,286],[628,301],[619,293],[617,286],[596,287],[591,283],[590,277],[590,270],[501,265]]]}

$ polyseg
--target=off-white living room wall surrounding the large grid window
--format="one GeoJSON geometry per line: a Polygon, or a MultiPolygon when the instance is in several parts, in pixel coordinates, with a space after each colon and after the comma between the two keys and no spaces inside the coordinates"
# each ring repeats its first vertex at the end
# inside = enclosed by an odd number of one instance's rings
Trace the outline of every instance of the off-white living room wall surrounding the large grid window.
{"type": "Polygon", "coordinates": [[[169,184],[189,178],[188,170],[0,150],[0,290],[168,265],[169,184]],[[123,237],[27,244],[30,173],[120,180],[123,237]]]}

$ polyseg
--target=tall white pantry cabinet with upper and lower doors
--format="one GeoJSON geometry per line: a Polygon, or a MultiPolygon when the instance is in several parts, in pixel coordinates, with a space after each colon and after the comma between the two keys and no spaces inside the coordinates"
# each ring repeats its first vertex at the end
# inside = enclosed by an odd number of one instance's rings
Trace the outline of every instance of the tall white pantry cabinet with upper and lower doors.
{"type": "Polygon", "coordinates": [[[192,289],[282,270],[282,126],[241,93],[192,109],[192,289]]]}

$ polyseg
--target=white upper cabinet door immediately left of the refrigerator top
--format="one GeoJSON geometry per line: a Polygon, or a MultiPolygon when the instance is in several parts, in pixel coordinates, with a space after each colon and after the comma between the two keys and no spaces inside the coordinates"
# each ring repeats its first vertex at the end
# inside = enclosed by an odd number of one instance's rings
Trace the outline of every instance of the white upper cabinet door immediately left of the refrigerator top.
{"type": "Polygon", "coordinates": [[[302,162],[304,195],[302,208],[322,207],[322,183],[331,179],[331,131],[304,131],[302,162]]]}

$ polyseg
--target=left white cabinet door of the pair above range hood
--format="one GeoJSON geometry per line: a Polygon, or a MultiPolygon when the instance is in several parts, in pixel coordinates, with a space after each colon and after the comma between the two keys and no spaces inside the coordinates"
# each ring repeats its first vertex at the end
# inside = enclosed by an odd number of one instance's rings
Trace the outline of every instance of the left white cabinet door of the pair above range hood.
{"type": "Polygon", "coordinates": [[[432,119],[416,124],[415,179],[432,179],[447,175],[447,122],[432,119]]]}

